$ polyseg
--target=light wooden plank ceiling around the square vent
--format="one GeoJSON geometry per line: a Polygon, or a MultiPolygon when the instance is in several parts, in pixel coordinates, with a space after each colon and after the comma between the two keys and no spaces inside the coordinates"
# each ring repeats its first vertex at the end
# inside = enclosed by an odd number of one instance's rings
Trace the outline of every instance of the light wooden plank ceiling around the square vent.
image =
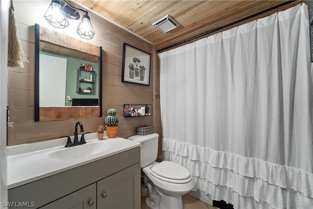
{"type": "MultiPolygon", "coordinates": [[[[225,24],[246,18],[287,0],[75,0],[143,39],[165,48],[225,24]],[[163,33],[152,23],[166,15],[179,27],[163,33]]],[[[280,10],[301,1],[288,4],[280,10]]],[[[271,13],[276,12],[272,11],[271,13]]],[[[265,14],[265,15],[269,15],[265,14]]],[[[263,15],[262,17],[264,17],[263,15]]],[[[258,17],[258,18],[261,18],[258,17]]],[[[91,20],[92,21],[92,20],[91,20]]]]}

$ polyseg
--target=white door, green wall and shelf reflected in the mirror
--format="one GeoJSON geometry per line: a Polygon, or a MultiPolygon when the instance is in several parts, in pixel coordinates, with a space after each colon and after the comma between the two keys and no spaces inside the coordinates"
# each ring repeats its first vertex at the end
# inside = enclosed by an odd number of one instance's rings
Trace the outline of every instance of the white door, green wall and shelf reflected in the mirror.
{"type": "Polygon", "coordinates": [[[88,60],[40,51],[39,106],[84,106],[78,99],[94,99],[98,105],[98,64],[88,60]],[[73,102],[74,101],[74,102],[73,102]]]}

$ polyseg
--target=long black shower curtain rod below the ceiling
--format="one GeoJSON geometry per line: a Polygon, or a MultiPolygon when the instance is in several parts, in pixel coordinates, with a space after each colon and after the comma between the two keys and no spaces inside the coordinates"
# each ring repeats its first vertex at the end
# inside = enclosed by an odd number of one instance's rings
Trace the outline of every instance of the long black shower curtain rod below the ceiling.
{"type": "MultiPolygon", "coordinates": [[[[278,9],[279,7],[285,6],[285,5],[287,5],[287,4],[290,4],[290,3],[293,3],[293,2],[296,2],[296,1],[297,1],[297,0],[289,0],[289,1],[286,1],[286,2],[284,2],[284,3],[278,4],[277,6],[273,6],[273,7],[271,7],[271,8],[266,9],[266,10],[263,10],[263,11],[261,11],[261,12],[257,12],[257,13],[255,13],[254,15],[250,15],[250,16],[248,16],[248,17],[246,17],[246,18],[243,18],[243,19],[240,19],[240,20],[238,20],[238,21],[225,24],[225,25],[223,25],[223,26],[221,26],[221,27],[215,28],[215,29],[213,29],[213,30],[207,31],[207,32],[202,33],[202,34],[200,34],[200,35],[197,35],[197,36],[194,36],[194,37],[192,37],[192,38],[186,39],[186,40],[181,41],[181,42],[179,42],[179,43],[177,43],[177,44],[174,44],[174,45],[167,46],[167,47],[165,47],[165,48],[156,50],[156,52],[159,53],[159,52],[164,51],[164,50],[166,50],[166,49],[168,49],[168,48],[172,48],[172,47],[175,47],[175,46],[184,44],[184,43],[189,42],[189,41],[191,41],[191,40],[200,38],[200,37],[202,37],[202,36],[206,36],[206,35],[208,35],[208,34],[210,34],[210,33],[215,32],[215,31],[223,30],[223,28],[225,28],[225,27],[229,27],[229,26],[231,26],[231,25],[233,25],[233,24],[238,24],[238,23],[243,22],[243,21],[245,21],[245,20],[248,20],[248,19],[250,19],[250,18],[257,17],[258,15],[261,15],[261,14],[263,14],[263,13],[269,12],[269,11],[274,10],[274,9],[278,9]]],[[[301,0],[300,2],[303,3],[302,0],[301,0]]]]}

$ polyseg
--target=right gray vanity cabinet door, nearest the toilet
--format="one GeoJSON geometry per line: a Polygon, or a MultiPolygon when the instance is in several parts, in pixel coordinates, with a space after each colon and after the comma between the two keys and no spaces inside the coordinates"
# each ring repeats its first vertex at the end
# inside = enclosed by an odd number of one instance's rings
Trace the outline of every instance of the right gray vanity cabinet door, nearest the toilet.
{"type": "Polygon", "coordinates": [[[97,182],[98,209],[140,209],[140,163],[97,182]]]}

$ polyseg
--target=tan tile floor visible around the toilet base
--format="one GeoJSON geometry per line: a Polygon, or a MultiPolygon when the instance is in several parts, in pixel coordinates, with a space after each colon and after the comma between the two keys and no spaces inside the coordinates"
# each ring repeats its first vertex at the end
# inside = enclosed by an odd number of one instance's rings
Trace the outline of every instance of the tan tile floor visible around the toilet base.
{"type": "MultiPolygon", "coordinates": [[[[146,205],[146,197],[141,196],[141,209],[149,209],[146,205]]],[[[182,196],[182,205],[183,209],[216,209],[209,204],[206,204],[189,194],[185,194],[182,196]]]]}

